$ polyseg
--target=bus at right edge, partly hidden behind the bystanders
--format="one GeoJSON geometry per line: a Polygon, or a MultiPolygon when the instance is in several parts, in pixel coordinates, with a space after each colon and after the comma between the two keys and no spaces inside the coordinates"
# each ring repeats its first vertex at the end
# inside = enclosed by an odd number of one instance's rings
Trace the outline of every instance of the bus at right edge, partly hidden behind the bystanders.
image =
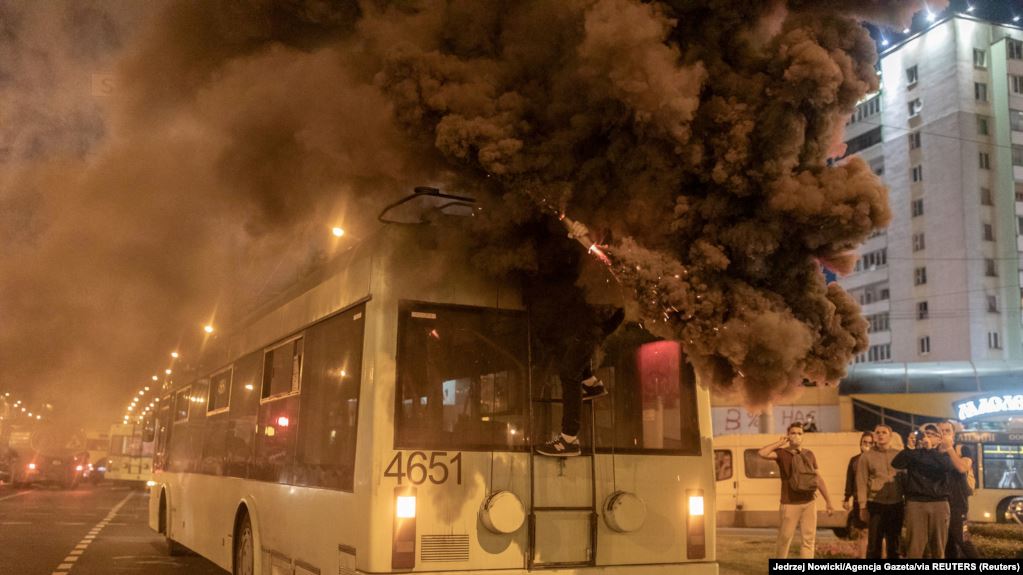
{"type": "Polygon", "coordinates": [[[1023,430],[968,431],[955,441],[970,447],[976,486],[968,519],[978,523],[1023,523],[1023,430]]]}

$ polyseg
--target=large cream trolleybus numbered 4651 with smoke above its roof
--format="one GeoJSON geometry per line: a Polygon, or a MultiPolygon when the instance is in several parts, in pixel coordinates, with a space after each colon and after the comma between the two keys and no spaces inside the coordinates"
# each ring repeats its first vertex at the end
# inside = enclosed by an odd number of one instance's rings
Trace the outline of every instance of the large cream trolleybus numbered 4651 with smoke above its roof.
{"type": "Polygon", "coordinates": [[[680,347],[623,326],[583,455],[534,455],[560,386],[470,255],[384,227],[166,393],[149,524],[171,550],[261,575],[717,573],[710,397],[680,347]]]}

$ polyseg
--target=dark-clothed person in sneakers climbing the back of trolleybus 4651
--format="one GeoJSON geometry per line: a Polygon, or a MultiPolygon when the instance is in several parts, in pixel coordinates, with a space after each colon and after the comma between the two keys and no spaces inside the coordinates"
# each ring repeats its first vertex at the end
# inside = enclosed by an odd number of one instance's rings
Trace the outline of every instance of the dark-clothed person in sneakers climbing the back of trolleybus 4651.
{"type": "Polygon", "coordinates": [[[562,433],[551,441],[536,447],[536,452],[551,457],[579,455],[579,429],[582,427],[582,402],[608,395],[604,383],[593,375],[592,361],[596,349],[625,319],[623,308],[612,308],[610,315],[591,334],[573,337],[559,362],[558,378],[562,383],[562,433]]]}

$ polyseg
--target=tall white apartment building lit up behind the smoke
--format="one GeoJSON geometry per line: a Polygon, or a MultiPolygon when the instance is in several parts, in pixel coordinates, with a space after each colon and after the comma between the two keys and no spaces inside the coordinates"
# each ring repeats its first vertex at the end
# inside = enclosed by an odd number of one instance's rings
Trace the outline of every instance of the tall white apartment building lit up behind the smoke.
{"type": "Polygon", "coordinates": [[[882,89],[846,127],[893,220],[842,285],[857,362],[1023,358],[1023,29],[955,14],[881,54],[882,89]]]}

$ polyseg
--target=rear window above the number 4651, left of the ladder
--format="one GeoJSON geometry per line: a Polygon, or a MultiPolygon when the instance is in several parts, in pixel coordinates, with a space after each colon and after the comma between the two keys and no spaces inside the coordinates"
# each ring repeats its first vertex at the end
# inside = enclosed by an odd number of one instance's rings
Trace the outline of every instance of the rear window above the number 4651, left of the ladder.
{"type": "Polygon", "coordinates": [[[402,304],[397,361],[396,447],[526,448],[525,313],[402,304]]]}

